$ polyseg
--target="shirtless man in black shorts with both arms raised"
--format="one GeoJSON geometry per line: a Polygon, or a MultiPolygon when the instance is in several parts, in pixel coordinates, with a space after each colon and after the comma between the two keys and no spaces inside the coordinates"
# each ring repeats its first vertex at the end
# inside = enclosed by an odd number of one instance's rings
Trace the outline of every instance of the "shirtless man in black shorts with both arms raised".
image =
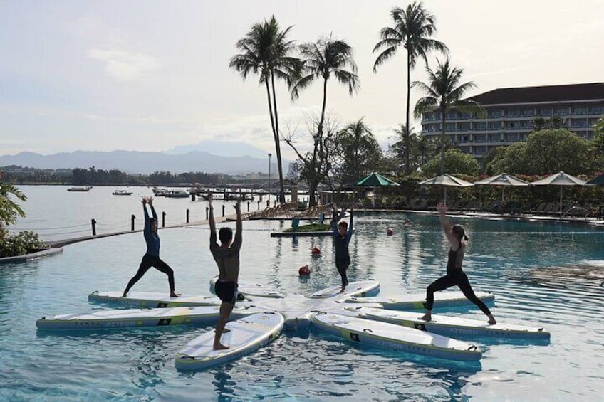
{"type": "Polygon", "coordinates": [[[237,281],[239,280],[239,250],[241,249],[241,200],[237,200],[235,211],[237,213],[236,233],[233,239],[231,228],[220,228],[217,243],[216,222],[214,221],[214,207],[212,206],[212,195],[208,197],[209,206],[209,250],[218,265],[218,280],[214,285],[216,295],[220,297],[220,317],[216,324],[214,334],[214,349],[229,349],[220,343],[220,337],[224,332],[229,315],[235,307],[237,300],[237,281]]]}

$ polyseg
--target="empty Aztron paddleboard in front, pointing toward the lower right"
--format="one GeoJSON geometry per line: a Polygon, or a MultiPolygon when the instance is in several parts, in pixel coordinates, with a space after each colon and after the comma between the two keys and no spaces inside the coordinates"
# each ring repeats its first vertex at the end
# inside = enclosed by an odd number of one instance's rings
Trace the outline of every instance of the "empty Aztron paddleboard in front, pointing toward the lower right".
{"type": "Polygon", "coordinates": [[[482,352],[473,344],[387,322],[333,313],[311,315],[313,326],[337,337],[424,356],[479,361],[482,352]]]}

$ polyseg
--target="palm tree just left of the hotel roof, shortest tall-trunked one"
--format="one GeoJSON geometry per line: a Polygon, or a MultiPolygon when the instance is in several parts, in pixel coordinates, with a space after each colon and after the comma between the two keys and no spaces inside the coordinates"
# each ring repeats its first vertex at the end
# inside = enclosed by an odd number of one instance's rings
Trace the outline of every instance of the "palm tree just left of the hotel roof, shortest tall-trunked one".
{"type": "Polygon", "coordinates": [[[425,93],[417,101],[415,117],[419,118],[422,113],[433,112],[438,109],[441,113],[441,136],[440,136],[440,174],[444,174],[444,123],[447,121],[447,111],[454,107],[455,110],[461,112],[474,112],[478,115],[484,114],[484,109],[478,102],[473,100],[463,100],[462,97],[469,90],[476,88],[476,85],[469,81],[468,83],[460,84],[464,70],[462,68],[452,67],[449,59],[444,63],[437,60],[438,67],[432,71],[429,67],[426,68],[429,83],[425,84],[421,81],[414,81],[412,88],[418,87],[425,93]]]}

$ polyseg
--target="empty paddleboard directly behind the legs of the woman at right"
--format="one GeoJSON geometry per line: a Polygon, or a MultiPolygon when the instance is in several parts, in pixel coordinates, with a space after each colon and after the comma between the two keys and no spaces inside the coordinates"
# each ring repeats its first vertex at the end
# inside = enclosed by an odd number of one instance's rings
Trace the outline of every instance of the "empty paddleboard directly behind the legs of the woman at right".
{"type": "MultiPolygon", "coordinates": [[[[476,292],[477,297],[485,303],[493,303],[495,295],[489,292],[476,292]]],[[[354,297],[349,296],[341,300],[345,303],[380,303],[387,310],[422,310],[426,306],[425,293],[413,293],[399,296],[378,296],[378,297],[354,297]]],[[[467,300],[461,291],[449,290],[445,292],[434,293],[434,308],[459,307],[465,305],[474,305],[467,300]]]]}

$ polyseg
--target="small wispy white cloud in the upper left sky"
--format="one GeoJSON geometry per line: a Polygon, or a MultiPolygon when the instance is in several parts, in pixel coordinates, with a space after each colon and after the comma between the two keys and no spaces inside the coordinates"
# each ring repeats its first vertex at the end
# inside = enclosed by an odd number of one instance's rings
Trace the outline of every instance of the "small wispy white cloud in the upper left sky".
{"type": "Polygon", "coordinates": [[[105,63],[105,72],[118,81],[140,80],[160,69],[155,58],[142,53],[93,48],[88,57],[105,63]]]}

